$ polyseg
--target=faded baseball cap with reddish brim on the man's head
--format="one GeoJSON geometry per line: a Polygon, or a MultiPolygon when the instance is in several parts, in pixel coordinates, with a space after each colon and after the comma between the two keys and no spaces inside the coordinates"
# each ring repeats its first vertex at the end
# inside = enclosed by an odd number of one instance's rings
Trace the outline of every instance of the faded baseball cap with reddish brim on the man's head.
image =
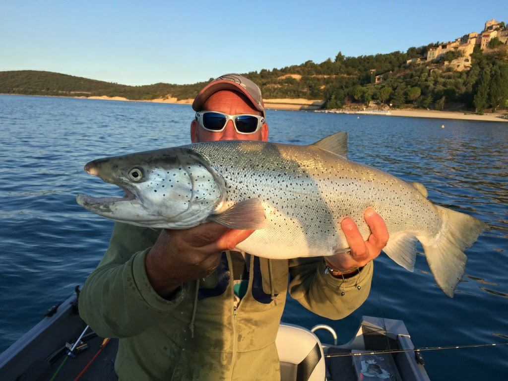
{"type": "Polygon", "coordinates": [[[246,96],[252,105],[266,118],[265,105],[258,85],[240,74],[224,74],[207,84],[192,104],[194,111],[202,111],[203,104],[219,90],[234,90],[246,96]]]}

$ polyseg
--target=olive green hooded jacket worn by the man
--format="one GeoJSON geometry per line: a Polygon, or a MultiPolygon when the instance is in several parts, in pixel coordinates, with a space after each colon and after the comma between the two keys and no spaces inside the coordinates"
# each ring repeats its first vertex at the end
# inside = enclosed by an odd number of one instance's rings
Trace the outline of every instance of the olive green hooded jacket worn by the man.
{"type": "Polygon", "coordinates": [[[350,314],[370,290],[372,263],[344,281],[324,273],[322,258],[252,256],[248,290],[235,308],[225,252],[212,275],[184,283],[166,300],[145,272],[146,253],[159,233],[116,223],[79,297],[83,320],[100,336],[120,338],[115,370],[122,381],[278,380],[275,336],[288,288],[305,308],[329,319],[350,314]]]}

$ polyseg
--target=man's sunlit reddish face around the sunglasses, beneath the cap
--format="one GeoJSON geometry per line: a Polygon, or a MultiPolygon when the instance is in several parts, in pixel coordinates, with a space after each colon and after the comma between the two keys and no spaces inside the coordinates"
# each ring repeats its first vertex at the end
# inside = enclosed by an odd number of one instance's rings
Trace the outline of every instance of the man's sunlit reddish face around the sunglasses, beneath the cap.
{"type": "MultiPolygon", "coordinates": [[[[252,108],[250,102],[242,94],[231,90],[220,90],[212,94],[203,104],[201,111],[217,111],[229,115],[250,114],[261,115],[252,108]]],[[[197,120],[190,123],[190,139],[193,143],[212,142],[217,140],[268,140],[268,124],[263,123],[261,129],[253,134],[238,134],[233,120],[228,120],[223,131],[212,132],[202,128],[197,120]]]]}

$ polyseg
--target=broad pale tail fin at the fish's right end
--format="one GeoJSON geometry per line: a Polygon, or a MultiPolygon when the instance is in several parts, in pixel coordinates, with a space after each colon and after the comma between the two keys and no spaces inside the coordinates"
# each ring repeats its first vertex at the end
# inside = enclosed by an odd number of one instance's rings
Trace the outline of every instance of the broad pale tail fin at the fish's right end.
{"type": "Polygon", "coordinates": [[[465,213],[437,205],[435,207],[441,215],[441,230],[434,239],[420,241],[437,285],[453,298],[455,287],[466,267],[467,257],[464,250],[477,240],[487,228],[487,224],[465,213]]]}

